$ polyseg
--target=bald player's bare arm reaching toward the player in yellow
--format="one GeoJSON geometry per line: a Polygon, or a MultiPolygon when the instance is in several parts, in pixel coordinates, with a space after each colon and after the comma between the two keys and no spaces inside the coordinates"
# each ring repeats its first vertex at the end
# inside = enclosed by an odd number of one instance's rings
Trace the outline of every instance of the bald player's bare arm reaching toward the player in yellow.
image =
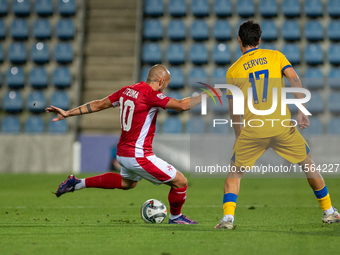
{"type": "MultiPolygon", "coordinates": [[[[219,96],[222,96],[222,92],[220,89],[215,88],[216,92],[218,93],[219,96]]],[[[211,94],[215,95],[214,92],[211,92],[211,94]]],[[[192,96],[192,97],[186,97],[181,100],[171,98],[169,102],[166,105],[166,109],[172,109],[175,111],[188,111],[192,108],[195,108],[196,106],[201,104],[202,100],[202,94],[207,94],[206,92],[203,92],[197,96],[192,96]]]]}

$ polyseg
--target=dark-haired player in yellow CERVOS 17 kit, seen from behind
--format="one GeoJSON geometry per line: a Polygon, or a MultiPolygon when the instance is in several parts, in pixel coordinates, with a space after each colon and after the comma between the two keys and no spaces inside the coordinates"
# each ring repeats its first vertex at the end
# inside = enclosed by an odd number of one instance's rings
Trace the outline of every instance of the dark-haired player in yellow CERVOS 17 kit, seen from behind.
{"type": "MultiPolygon", "coordinates": [[[[318,171],[312,170],[315,163],[310,148],[301,136],[296,123],[287,121],[291,114],[286,107],[286,115],[281,115],[281,88],[284,87],[283,75],[292,87],[302,88],[300,79],[294,68],[279,51],[259,49],[261,27],[253,20],[241,24],[238,31],[238,42],[243,56],[241,56],[227,72],[227,84],[237,86],[245,95],[245,112],[243,122],[241,115],[233,114],[233,96],[228,90],[229,113],[236,141],[231,157],[231,166],[236,171],[230,171],[224,185],[223,212],[224,217],[215,228],[232,229],[236,199],[240,190],[240,181],[244,174],[243,167],[252,167],[256,160],[269,148],[292,164],[298,163],[306,173],[309,185],[314,191],[320,207],[323,210],[324,223],[340,222],[340,214],[333,208],[327,186],[318,171]],[[273,100],[273,90],[276,88],[277,109],[269,115],[256,115],[246,106],[248,88],[252,88],[252,105],[256,110],[270,109],[273,100]],[[249,122],[249,120],[253,120],[249,122]],[[267,120],[267,121],[266,121],[267,120]],[[268,121],[271,120],[271,121],[268,121]],[[286,120],[284,126],[282,121],[286,120]],[[244,126],[241,128],[241,123],[244,126]],[[258,127],[254,127],[254,126],[258,127]],[[260,127],[259,127],[260,126],[260,127]],[[287,127],[288,126],[288,127],[287,127]]],[[[250,95],[251,96],[251,95],[250,95]]],[[[304,98],[302,93],[294,93],[296,99],[304,98]]],[[[304,106],[304,104],[303,104],[304,106]]],[[[254,112],[254,111],[253,111],[254,112]]],[[[309,126],[308,116],[300,109],[297,125],[300,129],[309,126]]]]}

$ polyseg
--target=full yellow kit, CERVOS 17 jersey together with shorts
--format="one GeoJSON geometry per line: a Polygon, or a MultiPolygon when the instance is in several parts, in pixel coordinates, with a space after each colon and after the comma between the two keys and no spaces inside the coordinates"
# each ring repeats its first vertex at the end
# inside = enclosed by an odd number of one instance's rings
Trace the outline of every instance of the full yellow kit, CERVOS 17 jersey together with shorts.
{"type": "MultiPolygon", "coordinates": [[[[253,48],[229,68],[227,83],[240,88],[245,98],[243,120],[246,125],[242,127],[231,157],[236,166],[253,166],[268,148],[291,163],[300,163],[307,157],[310,149],[290,121],[291,114],[287,106],[286,115],[281,115],[281,88],[285,86],[283,71],[289,67],[292,67],[291,64],[279,51],[253,48]],[[251,101],[256,110],[272,107],[273,88],[277,88],[277,108],[272,114],[256,115],[250,111],[247,95],[250,87],[253,89],[251,101]],[[252,126],[249,125],[250,120],[253,120],[252,126]],[[282,125],[283,120],[287,120],[283,123],[285,127],[282,125]]],[[[227,96],[232,97],[230,90],[227,96]]]]}

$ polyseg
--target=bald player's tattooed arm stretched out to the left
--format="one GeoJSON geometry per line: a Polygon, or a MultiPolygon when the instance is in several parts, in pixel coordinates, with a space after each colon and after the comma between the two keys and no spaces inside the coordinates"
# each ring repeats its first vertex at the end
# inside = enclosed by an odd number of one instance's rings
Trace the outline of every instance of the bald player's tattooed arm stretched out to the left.
{"type": "Polygon", "coordinates": [[[101,110],[107,109],[112,107],[111,101],[108,97],[105,97],[101,100],[95,100],[86,104],[83,104],[81,106],[78,106],[76,108],[73,108],[72,110],[69,111],[64,111],[63,109],[60,109],[58,107],[55,107],[51,105],[50,107],[47,107],[45,110],[46,112],[54,112],[58,116],[52,121],[58,121],[58,120],[63,120],[67,117],[71,116],[77,116],[77,115],[82,115],[82,114],[88,114],[88,113],[93,113],[93,112],[99,112],[101,110]]]}

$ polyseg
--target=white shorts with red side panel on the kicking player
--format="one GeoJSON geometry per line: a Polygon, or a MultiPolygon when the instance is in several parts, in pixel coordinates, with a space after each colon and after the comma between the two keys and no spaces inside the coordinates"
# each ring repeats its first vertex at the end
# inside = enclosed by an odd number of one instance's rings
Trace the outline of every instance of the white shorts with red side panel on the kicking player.
{"type": "Polygon", "coordinates": [[[120,174],[123,178],[140,181],[142,178],[159,185],[173,180],[177,170],[156,155],[144,158],[121,157],[117,161],[122,166],[120,174]]]}

